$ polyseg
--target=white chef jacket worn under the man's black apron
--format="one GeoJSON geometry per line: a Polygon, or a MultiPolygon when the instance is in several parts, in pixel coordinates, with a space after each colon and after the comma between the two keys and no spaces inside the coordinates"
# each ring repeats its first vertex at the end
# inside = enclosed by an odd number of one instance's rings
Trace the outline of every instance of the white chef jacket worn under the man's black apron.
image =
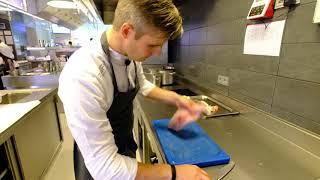
{"type": "MultiPolygon", "coordinates": [[[[109,48],[120,92],[135,87],[134,64],[124,64],[125,56],[109,48]]],[[[106,112],[113,101],[110,65],[100,42],[90,42],[70,57],[59,79],[59,97],[63,102],[67,123],[88,171],[96,180],[134,179],[136,159],[117,153],[118,148],[106,112]],[[106,62],[106,65],[103,63],[106,62]]],[[[155,87],[143,75],[137,62],[139,93],[146,96],[155,87]]]]}

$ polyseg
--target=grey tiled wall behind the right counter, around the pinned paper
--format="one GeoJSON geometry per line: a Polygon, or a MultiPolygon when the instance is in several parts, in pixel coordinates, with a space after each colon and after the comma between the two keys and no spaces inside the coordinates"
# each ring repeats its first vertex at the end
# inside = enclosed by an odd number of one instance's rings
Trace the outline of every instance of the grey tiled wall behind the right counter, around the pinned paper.
{"type": "MultiPolygon", "coordinates": [[[[280,57],[243,54],[253,0],[185,1],[185,33],[172,59],[185,77],[320,134],[320,26],[316,0],[301,0],[287,17],[280,57]],[[229,86],[217,84],[218,75],[229,86]]],[[[284,10],[275,13],[284,19],[284,10]]]]}

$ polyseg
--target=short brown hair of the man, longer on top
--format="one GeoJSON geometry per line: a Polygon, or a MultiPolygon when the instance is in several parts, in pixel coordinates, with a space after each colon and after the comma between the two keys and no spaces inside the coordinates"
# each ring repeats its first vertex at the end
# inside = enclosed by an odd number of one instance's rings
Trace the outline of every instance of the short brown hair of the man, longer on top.
{"type": "Polygon", "coordinates": [[[125,22],[131,23],[137,34],[147,25],[158,28],[169,39],[183,32],[182,17],[172,0],[119,0],[113,28],[118,31],[125,22]]]}

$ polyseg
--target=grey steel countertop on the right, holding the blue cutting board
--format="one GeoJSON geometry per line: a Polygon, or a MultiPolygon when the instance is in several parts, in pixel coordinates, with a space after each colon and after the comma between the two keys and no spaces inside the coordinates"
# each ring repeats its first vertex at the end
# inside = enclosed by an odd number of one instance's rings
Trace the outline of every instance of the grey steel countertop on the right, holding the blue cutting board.
{"type": "MultiPolygon", "coordinates": [[[[319,135],[230,98],[212,94],[190,82],[182,83],[181,87],[218,99],[241,113],[198,121],[236,164],[224,179],[317,180],[320,178],[319,135]]],[[[156,119],[171,118],[176,108],[142,96],[137,100],[146,117],[144,123],[149,136],[160,150],[165,162],[151,122],[156,119]]],[[[218,178],[217,174],[222,166],[207,167],[204,170],[215,179],[218,178]]]]}

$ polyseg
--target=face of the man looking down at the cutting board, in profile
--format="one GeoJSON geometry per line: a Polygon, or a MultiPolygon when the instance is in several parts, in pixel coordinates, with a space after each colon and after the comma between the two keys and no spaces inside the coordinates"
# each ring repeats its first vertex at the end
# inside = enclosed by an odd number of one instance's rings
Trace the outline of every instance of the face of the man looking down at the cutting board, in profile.
{"type": "Polygon", "coordinates": [[[151,56],[160,56],[161,49],[167,38],[155,28],[149,28],[146,33],[137,38],[137,32],[132,30],[125,46],[127,56],[135,61],[145,61],[151,56]]]}

